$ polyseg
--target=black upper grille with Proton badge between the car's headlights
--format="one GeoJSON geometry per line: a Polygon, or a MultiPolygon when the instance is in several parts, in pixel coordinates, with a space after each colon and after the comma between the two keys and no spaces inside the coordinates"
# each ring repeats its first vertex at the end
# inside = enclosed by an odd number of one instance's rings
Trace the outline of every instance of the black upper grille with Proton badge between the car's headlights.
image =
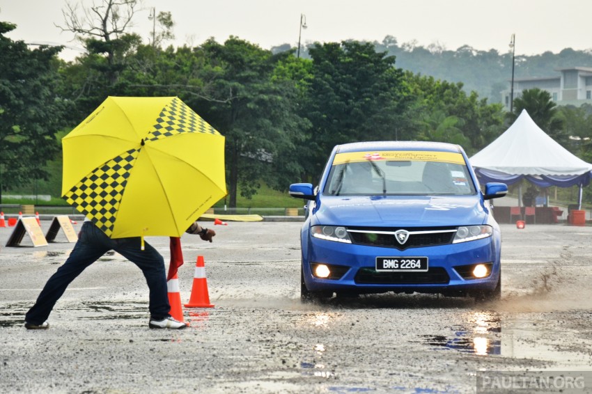
{"type": "Polygon", "coordinates": [[[410,235],[407,238],[407,242],[403,245],[396,240],[393,234],[396,230],[400,230],[399,228],[349,228],[349,230],[356,230],[356,232],[350,231],[349,233],[350,239],[352,239],[352,243],[354,244],[396,248],[403,251],[409,248],[450,244],[456,228],[405,228],[405,230],[410,232],[410,235]],[[381,233],[376,233],[379,230],[381,233]],[[440,233],[447,230],[449,233],[440,233]],[[383,234],[384,232],[389,232],[389,234],[383,234]]]}

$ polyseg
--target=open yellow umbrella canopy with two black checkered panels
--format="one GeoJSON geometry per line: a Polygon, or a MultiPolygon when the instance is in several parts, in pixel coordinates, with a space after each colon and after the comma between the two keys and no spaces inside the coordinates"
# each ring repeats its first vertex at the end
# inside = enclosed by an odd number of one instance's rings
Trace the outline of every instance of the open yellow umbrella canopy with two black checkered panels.
{"type": "Polygon", "coordinates": [[[111,238],[180,237],[226,196],[224,136],[178,97],[107,97],[62,146],[62,197],[111,238]]]}

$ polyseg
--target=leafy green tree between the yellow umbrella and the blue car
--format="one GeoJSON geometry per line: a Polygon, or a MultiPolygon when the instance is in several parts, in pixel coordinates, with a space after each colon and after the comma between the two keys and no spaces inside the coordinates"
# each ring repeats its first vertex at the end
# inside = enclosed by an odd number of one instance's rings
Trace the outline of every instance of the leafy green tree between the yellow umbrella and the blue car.
{"type": "Polygon", "coordinates": [[[286,160],[281,153],[294,149],[293,141],[306,127],[297,116],[299,90],[293,79],[275,74],[292,55],[274,55],[235,37],[224,45],[208,40],[194,51],[205,61],[199,72],[203,86],[200,95],[185,100],[226,137],[228,205],[235,207],[239,186],[249,198],[259,180],[277,182],[280,167],[284,174],[297,171],[280,164],[286,160]]]}

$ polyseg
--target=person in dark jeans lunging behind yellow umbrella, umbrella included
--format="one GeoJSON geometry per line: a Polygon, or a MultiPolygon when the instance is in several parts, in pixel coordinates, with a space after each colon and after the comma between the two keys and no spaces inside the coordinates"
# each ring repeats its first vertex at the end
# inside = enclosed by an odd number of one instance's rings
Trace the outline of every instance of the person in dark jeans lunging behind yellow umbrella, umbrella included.
{"type": "MultiPolygon", "coordinates": [[[[70,257],[26,313],[47,317],[68,284],[104,253],[134,262],[150,289],[150,328],[182,329],[169,315],[164,259],[146,236],[171,237],[176,270],[183,233],[212,242],[196,220],[226,196],[224,136],[178,97],[107,97],[62,139],[62,197],[86,216],[70,257]],[[173,244],[176,248],[173,248],[173,244]]],[[[175,271],[169,269],[169,275],[175,271]]]]}

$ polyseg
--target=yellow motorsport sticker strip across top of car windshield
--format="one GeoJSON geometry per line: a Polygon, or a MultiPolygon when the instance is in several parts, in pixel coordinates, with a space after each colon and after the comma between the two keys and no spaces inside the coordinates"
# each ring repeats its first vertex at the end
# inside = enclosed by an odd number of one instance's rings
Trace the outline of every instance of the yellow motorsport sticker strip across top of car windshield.
{"type": "Polygon", "coordinates": [[[460,153],[436,152],[433,150],[382,150],[380,152],[346,152],[335,155],[333,165],[354,163],[355,161],[444,161],[445,163],[465,164],[460,153]]]}

